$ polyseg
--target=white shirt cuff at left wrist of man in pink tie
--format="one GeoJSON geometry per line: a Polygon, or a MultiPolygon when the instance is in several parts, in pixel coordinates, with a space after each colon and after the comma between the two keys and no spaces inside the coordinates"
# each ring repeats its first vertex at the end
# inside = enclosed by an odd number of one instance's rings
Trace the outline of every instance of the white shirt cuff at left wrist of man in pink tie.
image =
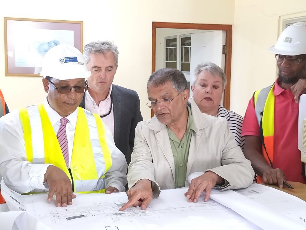
{"type": "Polygon", "coordinates": [[[47,168],[51,164],[33,164],[30,171],[30,186],[34,189],[46,189],[44,186],[44,178],[47,168]]]}

